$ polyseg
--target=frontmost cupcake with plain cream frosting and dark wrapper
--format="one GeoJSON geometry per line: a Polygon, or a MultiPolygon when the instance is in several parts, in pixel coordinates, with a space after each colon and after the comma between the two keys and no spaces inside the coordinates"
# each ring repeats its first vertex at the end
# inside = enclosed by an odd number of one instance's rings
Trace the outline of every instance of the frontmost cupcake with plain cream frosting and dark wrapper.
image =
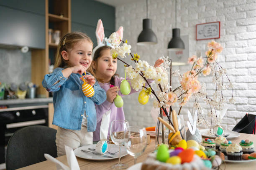
{"type": "Polygon", "coordinates": [[[242,147],[236,143],[230,144],[227,149],[226,153],[228,155],[228,160],[241,160],[243,152],[242,147]]]}

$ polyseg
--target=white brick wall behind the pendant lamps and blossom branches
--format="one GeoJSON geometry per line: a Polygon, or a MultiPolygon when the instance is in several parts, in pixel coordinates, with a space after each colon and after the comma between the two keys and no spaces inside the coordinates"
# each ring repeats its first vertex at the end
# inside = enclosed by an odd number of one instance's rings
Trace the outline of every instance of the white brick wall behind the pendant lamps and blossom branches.
{"type": "MultiPolygon", "coordinates": [[[[167,56],[167,45],[175,27],[175,0],[148,0],[148,18],[153,21],[153,30],[158,38],[157,45],[137,46],[137,38],[142,30],[142,20],[146,18],[146,0],[116,7],[116,29],[124,27],[123,39],[128,39],[132,52],[141,55],[151,65],[161,56],[167,56]]],[[[228,69],[228,76],[235,85],[236,103],[228,105],[223,118],[223,126],[231,130],[246,114],[256,114],[256,0],[177,0],[177,28],[181,35],[189,35],[189,56],[197,50],[206,51],[210,40],[195,40],[195,25],[220,21],[219,42],[224,50],[218,57],[221,65],[228,69]]],[[[188,56],[188,57],[189,57],[188,56]]],[[[125,59],[130,62],[130,59],[125,59]]],[[[181,73],[190,66],[174,67],[181,73]]],[[[123,63],[118,62],[118,73],[124,77],[123,63]]],[[[214,91],[210,77],[200,77],[205,82],[209,94],[214,91]]],[[[177,80],[173,80],[177,82],[177,80]]],[[[227,82],[227,81],[225,81],[227,82]]],[[[173,85],[177,87],[176,85],[173,85]]],[[[224,92],[227,100],[231,90],[224,92]]],[[[125,117],[131,125],[154,126],[150,110],[153,99],[148,104],[138,103],[138,93],[123,97],[125,117]]],[[[186,117],[187,110],[192,111],[192,102],[182,108],[186,117]]],[[[205,106],[205,105],[203,105],[205,106]]],[[[178,105],[174,106],[178,111],[178,105]]]]}

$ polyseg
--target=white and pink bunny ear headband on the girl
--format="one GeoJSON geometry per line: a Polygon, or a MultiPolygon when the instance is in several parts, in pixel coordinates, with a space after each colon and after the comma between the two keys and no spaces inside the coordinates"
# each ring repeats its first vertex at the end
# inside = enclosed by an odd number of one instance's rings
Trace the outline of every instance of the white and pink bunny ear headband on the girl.
{"type": "MultiPolygon", "coordinates": [[[[115,32],[116,33],[116,36],[121,38],[121,40],[123,39],[123,27],[119,27],[118,31],[115,32]]],[[[105,33],[104,33],[104,27],[103,27],[103,24],[102,24],[102,21],[101,19],[98,20],[98,23],[97,23],[97,28],[96,28],[96,31],[95,31],[95,34],[96,34],[96,38],[97,38],[97,46],[92,50],[92,56],[94,56],[94,53],[95,51],[99,48],[99,47],[102,47],[104,45],[108,45],[106,42],[105,42],[105,33]]],[[[109,45],[110,46],[110,45],[109,45]]],[[[110,46],[111,47],[111,46],[110,46]]]]}

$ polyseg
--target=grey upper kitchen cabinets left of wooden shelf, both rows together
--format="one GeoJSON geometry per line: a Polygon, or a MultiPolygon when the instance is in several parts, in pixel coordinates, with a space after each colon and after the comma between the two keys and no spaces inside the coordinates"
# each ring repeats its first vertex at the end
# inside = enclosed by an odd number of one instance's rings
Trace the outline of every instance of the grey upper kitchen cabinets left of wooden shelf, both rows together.
{"type": "Polygon", "coordinates": [[[0,1],[0,44],[45,48],[45,1],[0,1]]]}

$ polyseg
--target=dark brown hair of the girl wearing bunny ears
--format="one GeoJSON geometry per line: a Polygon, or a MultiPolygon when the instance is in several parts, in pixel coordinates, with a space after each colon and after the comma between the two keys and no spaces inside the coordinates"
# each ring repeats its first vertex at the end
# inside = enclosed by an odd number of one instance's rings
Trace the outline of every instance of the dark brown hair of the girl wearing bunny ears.
{"type": "MultiPolygon", "coordinates": [[[[111,47],[110,46],[108,46],[108,45],[104,45],[104,46],[102,46],[102,47],[99,47],[96,51],[95,51],[95,53],[94,53],[94,55],[93,55],[93,62],[94,62],[94,64],[97,66],[97,64],[98,64],[98,59],[100,58],[100,57],[102,57],[102,52],[104,51],[104,50],[111,50],[111,47]]],[[[91,68],[92,68],[92,66],[90,66],[91,68]]],[[[95,70],[94,68],[92,68],[92,71],[94,72],[94,73],[96,73],[96,71],[97,70],[95,70]]],[[[94,75],[95,76],[95,75],[94,75]]],[[[111,77],[111,79],[110,79],[110,84],[111,85],[115,85],[115,76],[119,76],[118,74],[114,74],[112,77],[111,77]]],[[[98,81],[100,81],[100,82],[103,82],[103,80],[101,80],[101,79],[97,79],[98,81]]]]}

